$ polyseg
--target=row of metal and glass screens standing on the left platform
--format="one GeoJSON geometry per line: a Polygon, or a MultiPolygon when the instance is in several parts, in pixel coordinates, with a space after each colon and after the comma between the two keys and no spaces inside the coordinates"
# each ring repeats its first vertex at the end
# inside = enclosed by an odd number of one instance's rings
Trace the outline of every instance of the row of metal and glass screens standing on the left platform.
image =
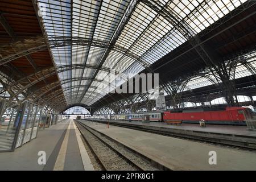
{"type": "Polygon", "coordinates": [[[62,115],[42,113],[42,106],[25,101],[8,105],[0,101],[0,152],[15,148],[36,138],[39,127],[61,122],[62,115]]]}

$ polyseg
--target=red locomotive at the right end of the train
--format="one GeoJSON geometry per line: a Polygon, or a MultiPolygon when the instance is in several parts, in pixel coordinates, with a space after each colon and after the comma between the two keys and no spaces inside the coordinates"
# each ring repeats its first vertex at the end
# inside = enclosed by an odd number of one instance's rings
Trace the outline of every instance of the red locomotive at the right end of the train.
{"type": "Polygon", "coordinates": [[[163,121],[167,123],[199,123],[246,125],[245,119],[252,117],[251,110],[245,107],[224,107],[218,110],[164,111],[163,121]]]}

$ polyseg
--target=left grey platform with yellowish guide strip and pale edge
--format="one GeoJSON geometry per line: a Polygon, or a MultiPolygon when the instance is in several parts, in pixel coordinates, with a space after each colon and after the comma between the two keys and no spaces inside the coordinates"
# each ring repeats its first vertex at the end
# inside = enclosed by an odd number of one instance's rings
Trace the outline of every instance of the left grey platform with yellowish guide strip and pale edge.
{"type": "Polygon", "coordinates": [[[16,148],[0,153],[0,170],[84,171],[94,170],[72,119],[47,129],[38,137],[16,148]],[[45,153],[44,153],[45,152],[45,153]],[[43,155],[46,154],[46,164],[43,155]]]}

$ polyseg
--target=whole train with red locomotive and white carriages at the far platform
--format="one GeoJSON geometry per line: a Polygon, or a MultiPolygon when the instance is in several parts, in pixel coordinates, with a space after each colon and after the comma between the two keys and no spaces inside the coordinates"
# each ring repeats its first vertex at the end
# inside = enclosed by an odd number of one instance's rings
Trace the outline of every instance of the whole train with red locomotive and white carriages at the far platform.
{"type": "Polygon", "coordinates": [[[152,111],[132,114],[94,115],[91,118],[142,121],[143,115],[149,115],[150,121],[166,123],[199,123],[203,119],[208,124],[246,125],[245,120],[253,117],[251,109],[246,107],[218,107],[204,109],[152,111]]]}

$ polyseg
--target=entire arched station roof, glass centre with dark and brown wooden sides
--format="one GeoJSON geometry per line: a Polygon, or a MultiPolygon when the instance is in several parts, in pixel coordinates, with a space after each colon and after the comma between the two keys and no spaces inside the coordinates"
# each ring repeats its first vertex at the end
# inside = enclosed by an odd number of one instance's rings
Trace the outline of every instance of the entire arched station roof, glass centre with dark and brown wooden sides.
{"type": "Polygon", "coordinates": [[[165,96],[214,90],[231,98],[254,86],[236,84],[256,75],[255,8],[252,0],[2,0],[0,97],[8,107],[28,100],[96,110],[133,100],[109,93],[125,82],[104,80],[110,73],[151,72],[165,96]],[[215,84],[223,88],[205,90],[215,84]]]}

